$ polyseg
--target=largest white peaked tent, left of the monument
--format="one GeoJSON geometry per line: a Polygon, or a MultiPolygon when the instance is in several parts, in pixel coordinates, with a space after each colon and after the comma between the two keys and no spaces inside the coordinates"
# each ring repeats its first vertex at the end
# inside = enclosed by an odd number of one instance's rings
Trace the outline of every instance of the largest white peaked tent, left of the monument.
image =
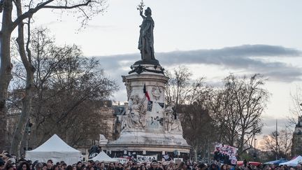
{"type": "Polygon", "coordinates": [[[25,153],[25,159],[27,160],[38,160],[38,162],[52,160],[54,163],[64,161],[66,164],[78,162],[81,156],[82,154],[79,150],[67,145],[57,134],[54,134],[38,148],[25,153]]]}

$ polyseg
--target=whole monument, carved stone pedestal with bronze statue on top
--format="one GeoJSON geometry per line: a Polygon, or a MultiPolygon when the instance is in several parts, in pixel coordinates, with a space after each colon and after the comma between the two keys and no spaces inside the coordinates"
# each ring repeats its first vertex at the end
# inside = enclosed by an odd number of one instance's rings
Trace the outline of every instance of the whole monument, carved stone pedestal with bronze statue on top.
{"type": "Polygon", "coordinates": [[[168,77],[154,57],[151,9],[147,8],[142,17],[138,43],[141,60],[131,66],[127,76],[122,76],[129,102],[125,115],[122,115],[122,131],[119,139],[106,145],[106,150],[143,151],[147,155],[148,151],[166,153],[178,150],[189,153],[190,147],[183,139],[173,104],[165,106],[164,103],[168,77]]]}

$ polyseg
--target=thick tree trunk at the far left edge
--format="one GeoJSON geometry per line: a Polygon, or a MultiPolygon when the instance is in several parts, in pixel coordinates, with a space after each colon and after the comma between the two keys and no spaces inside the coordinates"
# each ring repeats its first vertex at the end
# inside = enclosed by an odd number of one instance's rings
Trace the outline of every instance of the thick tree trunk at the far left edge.
{"type": "Polygon", "coordinates": [[[7,140],[7,118],[6,118],[6,98],[8,96],[8,85],[13,78],[11,69],[13,65],[10,63],[10,35],[11,29],[11,13],[13,4],[10,0],[3,1],[2,25],[0,32],[0,150],[6,149],[7,140]]]}

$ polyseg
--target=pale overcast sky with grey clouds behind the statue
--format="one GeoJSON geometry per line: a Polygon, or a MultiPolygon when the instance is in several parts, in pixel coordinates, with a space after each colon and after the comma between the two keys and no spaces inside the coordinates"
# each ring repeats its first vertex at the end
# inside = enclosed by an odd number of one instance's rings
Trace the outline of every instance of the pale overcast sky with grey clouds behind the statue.
{"type": "MultiPolygon", "coordinates": [[[[87,57],[99,57],[108,76],[117,80],[116,101],[125,101],[122,75],[140,59],[136,6],[140,0],[108,0],[107,12],[81,31],[71,16],[39,12],[37,26],[48,27],[57,43],[75,43],[87,57]],[[50,20],[50,18],[57,18],[50,20]]],[[[152,9],[155,57],[161,66],[188,66],[193,78],[219,82],[229,73],[262,73],[272,97],[264,113],[264,134],[285,126],[291,116],[290,93],[302,85],[302,1],[145,0],[152,9]]]]}

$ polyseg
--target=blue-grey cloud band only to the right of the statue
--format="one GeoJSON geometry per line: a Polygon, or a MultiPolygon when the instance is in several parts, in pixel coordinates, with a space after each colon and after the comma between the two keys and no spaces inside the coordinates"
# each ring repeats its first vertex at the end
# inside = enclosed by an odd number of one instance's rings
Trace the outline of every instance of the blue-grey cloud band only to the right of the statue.
{"type": "Polygon", "coordinates": [[[302,70],[284,62],[267,62],[261,57],[301,57],[302,52],[273,45],[240,45],[217,50],[174,51],[161,54],[161,63],[213,64],[224,69],[262,73],[270,80],[301,80],[302,70]]]}

